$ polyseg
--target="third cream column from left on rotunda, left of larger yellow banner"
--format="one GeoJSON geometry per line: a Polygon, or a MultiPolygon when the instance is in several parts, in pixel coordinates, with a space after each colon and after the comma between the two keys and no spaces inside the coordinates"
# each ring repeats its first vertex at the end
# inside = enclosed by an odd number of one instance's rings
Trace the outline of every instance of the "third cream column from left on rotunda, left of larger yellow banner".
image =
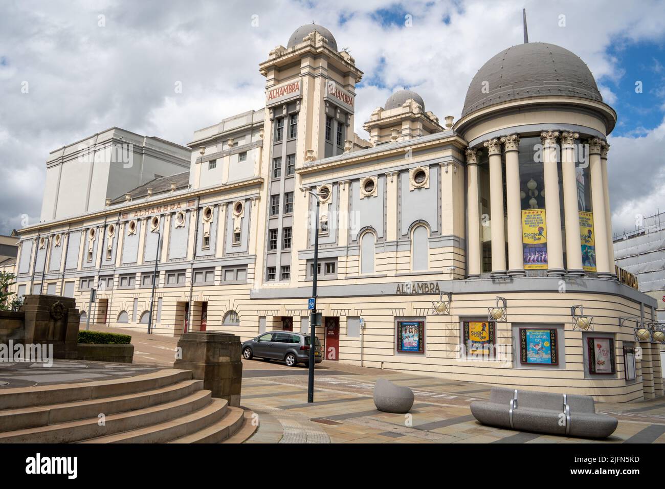
{"type": "Polygon", "coordinates": [[[505,200],[508,211],[508,275],[526,275],[522,245],[522,206],[519,198],[519,136],[501,138],[505,149],[505,200]]]}

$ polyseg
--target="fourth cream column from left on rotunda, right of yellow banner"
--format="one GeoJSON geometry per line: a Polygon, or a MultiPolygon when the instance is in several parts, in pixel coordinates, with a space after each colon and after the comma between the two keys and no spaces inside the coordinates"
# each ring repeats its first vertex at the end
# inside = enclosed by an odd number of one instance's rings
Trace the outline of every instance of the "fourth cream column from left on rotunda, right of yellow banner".
{"type": "MultiPolygon", "coordinates": [[[[543,170],[545,173],[545,226],[547,226],[547,275],[563,275],[563,239],[559,206],[559,170],[557,168],[559,131],[541,132],[543,170]]],[[[578,226],[579,227],[579,226],[578,226]]]]}

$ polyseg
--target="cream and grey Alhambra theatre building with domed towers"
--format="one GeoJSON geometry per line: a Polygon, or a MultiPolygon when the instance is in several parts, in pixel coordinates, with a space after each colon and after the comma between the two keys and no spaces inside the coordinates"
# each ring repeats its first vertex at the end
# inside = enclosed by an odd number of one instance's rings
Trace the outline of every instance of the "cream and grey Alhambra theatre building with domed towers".
{"type": "Polygon", "coordinates": [[[324,27],[299,27],[259,71],[265,108],[188,148],[112,128],[53,152],[42,222],[21,230],[19,293],[72,296],[82,321],[140,331],[154,297],[160,335],[309,331],[318,232],[330,361],[663,395],[656,301],[614,267],[616,112],[577,55],[509,47],[457,120],[401,90],[364,138],[363,73],[324,27]]]}

